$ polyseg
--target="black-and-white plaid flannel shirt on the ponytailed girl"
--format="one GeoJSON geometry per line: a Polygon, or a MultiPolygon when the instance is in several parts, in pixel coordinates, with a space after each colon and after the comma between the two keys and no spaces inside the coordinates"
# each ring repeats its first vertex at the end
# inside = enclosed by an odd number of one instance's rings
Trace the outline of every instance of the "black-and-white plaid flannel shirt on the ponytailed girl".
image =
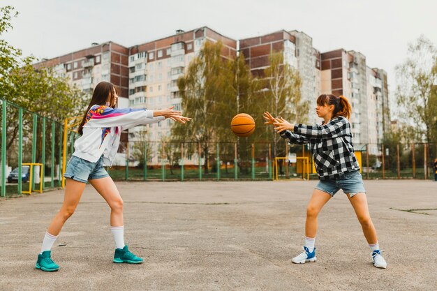
{"type": "Polygon", "coordinates": [[[310,144],[320,180],[337,179],[346,172],[360,170],[346,117],[335,117],[322,125],[297,124],[293,133],[284,130],[280,134],[291,144],[310,144]]]}

